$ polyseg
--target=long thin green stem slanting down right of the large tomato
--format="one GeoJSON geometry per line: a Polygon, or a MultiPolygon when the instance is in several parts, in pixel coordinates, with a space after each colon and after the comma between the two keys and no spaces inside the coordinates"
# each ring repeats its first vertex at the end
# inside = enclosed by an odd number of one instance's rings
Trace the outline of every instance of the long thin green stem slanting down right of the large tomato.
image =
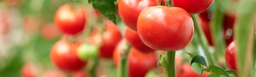
{"type": "Polygon", "coordinates": [[[210,54],[210,51],[208,49],[209,44],[207,42],[207,39],[205,38],[205,34],[203,34],[202,29],[200,29],[200,26],[198,25],[198,21],[197,21],[196,15],[191,15],[191,17],[192,17],[193,22],[194,22],[195,33],[197,33],[199,42],[200,42],[200,44],[202,44],[203,51],[205,52],[205,55],[207,57],[208,63],[217,66],[215,58],[213,57],[213,55],[210,54]]]}

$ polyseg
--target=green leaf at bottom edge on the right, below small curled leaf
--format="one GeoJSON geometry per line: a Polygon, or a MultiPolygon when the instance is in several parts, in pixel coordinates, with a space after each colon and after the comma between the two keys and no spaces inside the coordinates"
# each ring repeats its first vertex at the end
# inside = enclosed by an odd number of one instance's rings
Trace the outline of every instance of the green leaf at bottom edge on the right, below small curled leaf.
{"type": "MultiPolygon", "coordinates": [[[[211,71],[211,73],[215,73],[215,75],[218,75],[218,76],[224,75],[226,77],[229,77],[227,71],[223,70],[220,67],[216,67],[215,65],[210,65],[210,67],[203,69],[203,71],[208,71],[208,72],[211,71]]],[[[214,76],[210,76],[210,77],[215,77],[215,75],[214,76]]]]}

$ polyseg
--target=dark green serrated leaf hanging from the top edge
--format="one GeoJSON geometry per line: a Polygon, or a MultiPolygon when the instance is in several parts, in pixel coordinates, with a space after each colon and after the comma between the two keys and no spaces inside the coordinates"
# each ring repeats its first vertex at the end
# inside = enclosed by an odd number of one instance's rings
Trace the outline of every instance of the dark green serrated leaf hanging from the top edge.
{"type": "Polygon", "coordinates": [[[92,3],[94,9],[97,9],[101,14],[116,24],[116,15],[114,15],[114,13],[116,13],[115,1],[116,0],[88,0],[89,3],[92,3]]]}

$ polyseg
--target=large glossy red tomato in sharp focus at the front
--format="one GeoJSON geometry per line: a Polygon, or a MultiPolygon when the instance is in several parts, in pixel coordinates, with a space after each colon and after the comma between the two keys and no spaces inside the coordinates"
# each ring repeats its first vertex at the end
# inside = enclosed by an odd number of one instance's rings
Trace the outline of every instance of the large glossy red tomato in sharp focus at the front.
{"type": "Polygon", "coordinates": [[[177,51],[189,44],[194,24],[184,9],[153,6],[142,10],[137,29],[140,39],[148,47],[161,51],[177,51]]]}

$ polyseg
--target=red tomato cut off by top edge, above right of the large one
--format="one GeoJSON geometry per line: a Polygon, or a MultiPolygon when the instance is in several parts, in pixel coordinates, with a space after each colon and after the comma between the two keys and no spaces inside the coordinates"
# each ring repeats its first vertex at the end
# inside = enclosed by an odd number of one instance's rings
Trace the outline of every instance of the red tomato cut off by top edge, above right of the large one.
{"type": "Polygon", "coordinates": [[[207,10],[214,0],[173,0],[174,7],[181,7],[189,14],[199,14],[207,10]]]}

